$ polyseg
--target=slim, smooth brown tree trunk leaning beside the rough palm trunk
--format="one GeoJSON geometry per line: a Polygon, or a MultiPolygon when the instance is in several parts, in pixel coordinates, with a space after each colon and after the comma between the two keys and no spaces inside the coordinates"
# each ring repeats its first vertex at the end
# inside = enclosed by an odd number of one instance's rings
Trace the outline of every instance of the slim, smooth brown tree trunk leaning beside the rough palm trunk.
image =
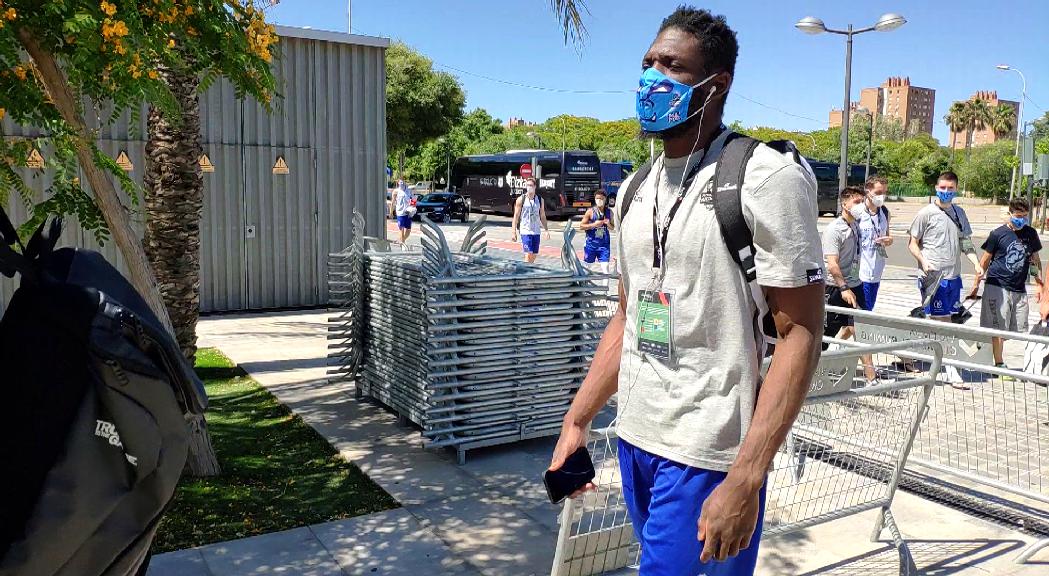
{"type": "MultiPolygon", "coordinates": [[[[146,303],[149,304],[150,310],[159,319],[164,328],[169,334],[174,335],[175,330],[171,325],[171,318],[168,316],[164,299],[153,278],[153,272],[150,270],[149,261],[146,258],[146,251],[131,228],[131,218],[128,217],[127,209],[122,204],[121,197],[116,193],[116,189],[113,187],[109,175],[94,163],[92,152],[94,142],[87,131],[84,119],[81,118],[79,103],[69,88],[65,73],[62,72],[55,57],[43,49],[31,34],[25,29],[20,29],[18,30],[18,38],[25,51],[29,55],[29,58],[36,63],[37,71],[40,72],[40,80],[44,85],[44,89],[50,95],[56,109],[62,115],[62,120],[77,134],[77,161],[84,171],[84,178],[94,193],[94,199],[99,205],[99,210],[102,212],[103,217],[106,219],[113,241],[124,256],[131,284],[138,291],[143,299],[146,300],[146,303]]],[[[205,465],[208,465],[210,461],[214,463],[211,470],[217,473],[217,460],[215,458],[214,450],[211,449],[211,441],[207,435],[208,432],[204,424],[204,417],[189,415],[188,420],[190,420],[191,469],[198,468],[194,466],[194,461],[201,461],[205,465]]],[[[205,467],[204,469],[207,470],[208,468],[205,467]]]]}

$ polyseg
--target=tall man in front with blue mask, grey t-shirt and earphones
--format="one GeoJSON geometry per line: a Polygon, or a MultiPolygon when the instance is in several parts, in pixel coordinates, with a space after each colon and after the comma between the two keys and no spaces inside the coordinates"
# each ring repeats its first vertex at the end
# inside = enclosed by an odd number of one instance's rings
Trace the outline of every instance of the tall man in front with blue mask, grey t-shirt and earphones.
{"type": "Polygon", "coordinates": [[[620,307],[551,462],[556,470],[585,445],[588,424],[618,391],[620,471],[642,576],[752,574],[766,473],[819,354],[815,177],[758,146],[740,193],[758,292],[779,337],[758,391],[759,303],[711,206],[736,54],[724,18],[682,6],[642,59],[638,115],[665,154],[618,215],[620,307]]]}

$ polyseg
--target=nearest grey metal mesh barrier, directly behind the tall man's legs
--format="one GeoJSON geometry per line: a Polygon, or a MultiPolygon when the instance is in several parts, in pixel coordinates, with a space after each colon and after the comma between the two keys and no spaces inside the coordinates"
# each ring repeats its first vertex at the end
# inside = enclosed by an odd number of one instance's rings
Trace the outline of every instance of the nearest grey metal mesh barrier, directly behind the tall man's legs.
{"type": "MultiPolygon", "coordinates": [[[[917,574],[892,514],[893,496],[940,369],[932,340],[823,354],[798,419],[768,476],[763,537],[787,534],[869,510],[879,510],[872,539],[887,528],[900,574],[917,574]],[[864,387],[856,366],[865,355],[927,347],[922,374],[864,387]]],[[[590,576],[636,567],[644,552],[635,537],[620,488],[618,442],[612,429],[592,432],[597,490],[568,499],[560,515],[552,576],[590,576]]]]}

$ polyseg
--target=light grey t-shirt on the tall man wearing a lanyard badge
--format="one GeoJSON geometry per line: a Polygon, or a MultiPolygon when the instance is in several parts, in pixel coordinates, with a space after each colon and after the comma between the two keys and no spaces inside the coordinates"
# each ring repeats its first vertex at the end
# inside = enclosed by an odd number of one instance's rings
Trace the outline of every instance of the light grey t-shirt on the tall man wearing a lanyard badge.
{"type": "MultiPolygon", "coordinates": [[[[711,145],[667,234],[662,287],[672,292],[675,365],[638,351],[638,294],[658,289],[652,273],[652,198],[659,194],[660,211],[669,211],[685,169],[683,161],[656,162],[638,188],[629,219],[620,222],[617,240],[626,294],[617,432],[645,451],[720,471],[732,465],[750,426],[761,368],[757,308],[725,246],[711,204],[711,180],[725,135],[727,131],[711,145]]],[[[693,162],[701,155],[694,154],[693,162]]],[[[758,283],[821,284],[816,182],[811,170],[758,146],[747,166],[742,196],[744,216],[754,234],[758,283]]]]}

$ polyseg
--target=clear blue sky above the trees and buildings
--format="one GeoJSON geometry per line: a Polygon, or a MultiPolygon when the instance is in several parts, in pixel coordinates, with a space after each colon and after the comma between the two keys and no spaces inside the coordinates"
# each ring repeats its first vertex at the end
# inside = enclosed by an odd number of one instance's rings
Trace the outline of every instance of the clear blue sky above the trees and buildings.
{"type": "MultiPolygon", "coordinates": [[[[541,122],[559,113],[617,120],[634,114],[633,93],[542,91],[480,77],[560,90],[630,91],[660,21],[679,3],[588,0],[590,38],[581,50],[564,45],[548,0],[352,0],[352,26],[356,34],[401,40],[420,50],[459,79],[468,108],[486,108],[502,121],[513,115],[541,122]]],[[[1034,104],[1027,103],[1025,119],[1049,110],[1049,37],[1024,30],[1049,22],[1046,0],[708,0],[697,5],[725,15],[740,40],[728,122],[826,128],[829,110],[843,99],[844,40],[804,35],[794,22],[811,15],[830,27],[850,22],[860,27],[887,12],[902,14],[907,24],[856,37],[853,100],[859,100],[861,88],[890,76],[908,76],[912,84],[937,90],[934,135],[946,143],[942,118],[951,102],[980,89],[1020,100],[1020,76],[994,68],[1006,63],[1027,77],[1034,104]]],[[[281,0],[270,18],[345,31],[346,0],[281,0]]]]}

